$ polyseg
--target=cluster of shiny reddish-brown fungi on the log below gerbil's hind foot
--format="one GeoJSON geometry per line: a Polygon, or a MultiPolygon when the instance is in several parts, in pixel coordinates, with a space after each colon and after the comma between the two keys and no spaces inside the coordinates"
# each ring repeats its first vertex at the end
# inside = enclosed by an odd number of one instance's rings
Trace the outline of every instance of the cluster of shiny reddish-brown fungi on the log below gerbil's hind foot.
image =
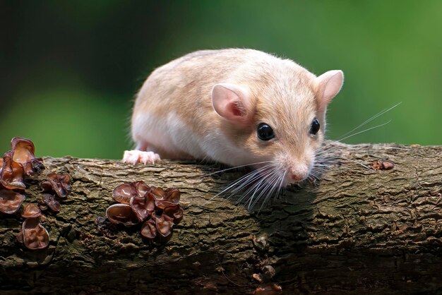
{"type": "Polygon", "coordinates": [[[119,203],[107,208],[107,219],[126,227],[143,223],[142,236],[168,240],[172,236],[174,224],[183,218],[183,210],[179,205],[180,195],[177,188],[163,190],[148,186],[143,181],[123,183],[112,193],[114,200],[119,203]]]}

